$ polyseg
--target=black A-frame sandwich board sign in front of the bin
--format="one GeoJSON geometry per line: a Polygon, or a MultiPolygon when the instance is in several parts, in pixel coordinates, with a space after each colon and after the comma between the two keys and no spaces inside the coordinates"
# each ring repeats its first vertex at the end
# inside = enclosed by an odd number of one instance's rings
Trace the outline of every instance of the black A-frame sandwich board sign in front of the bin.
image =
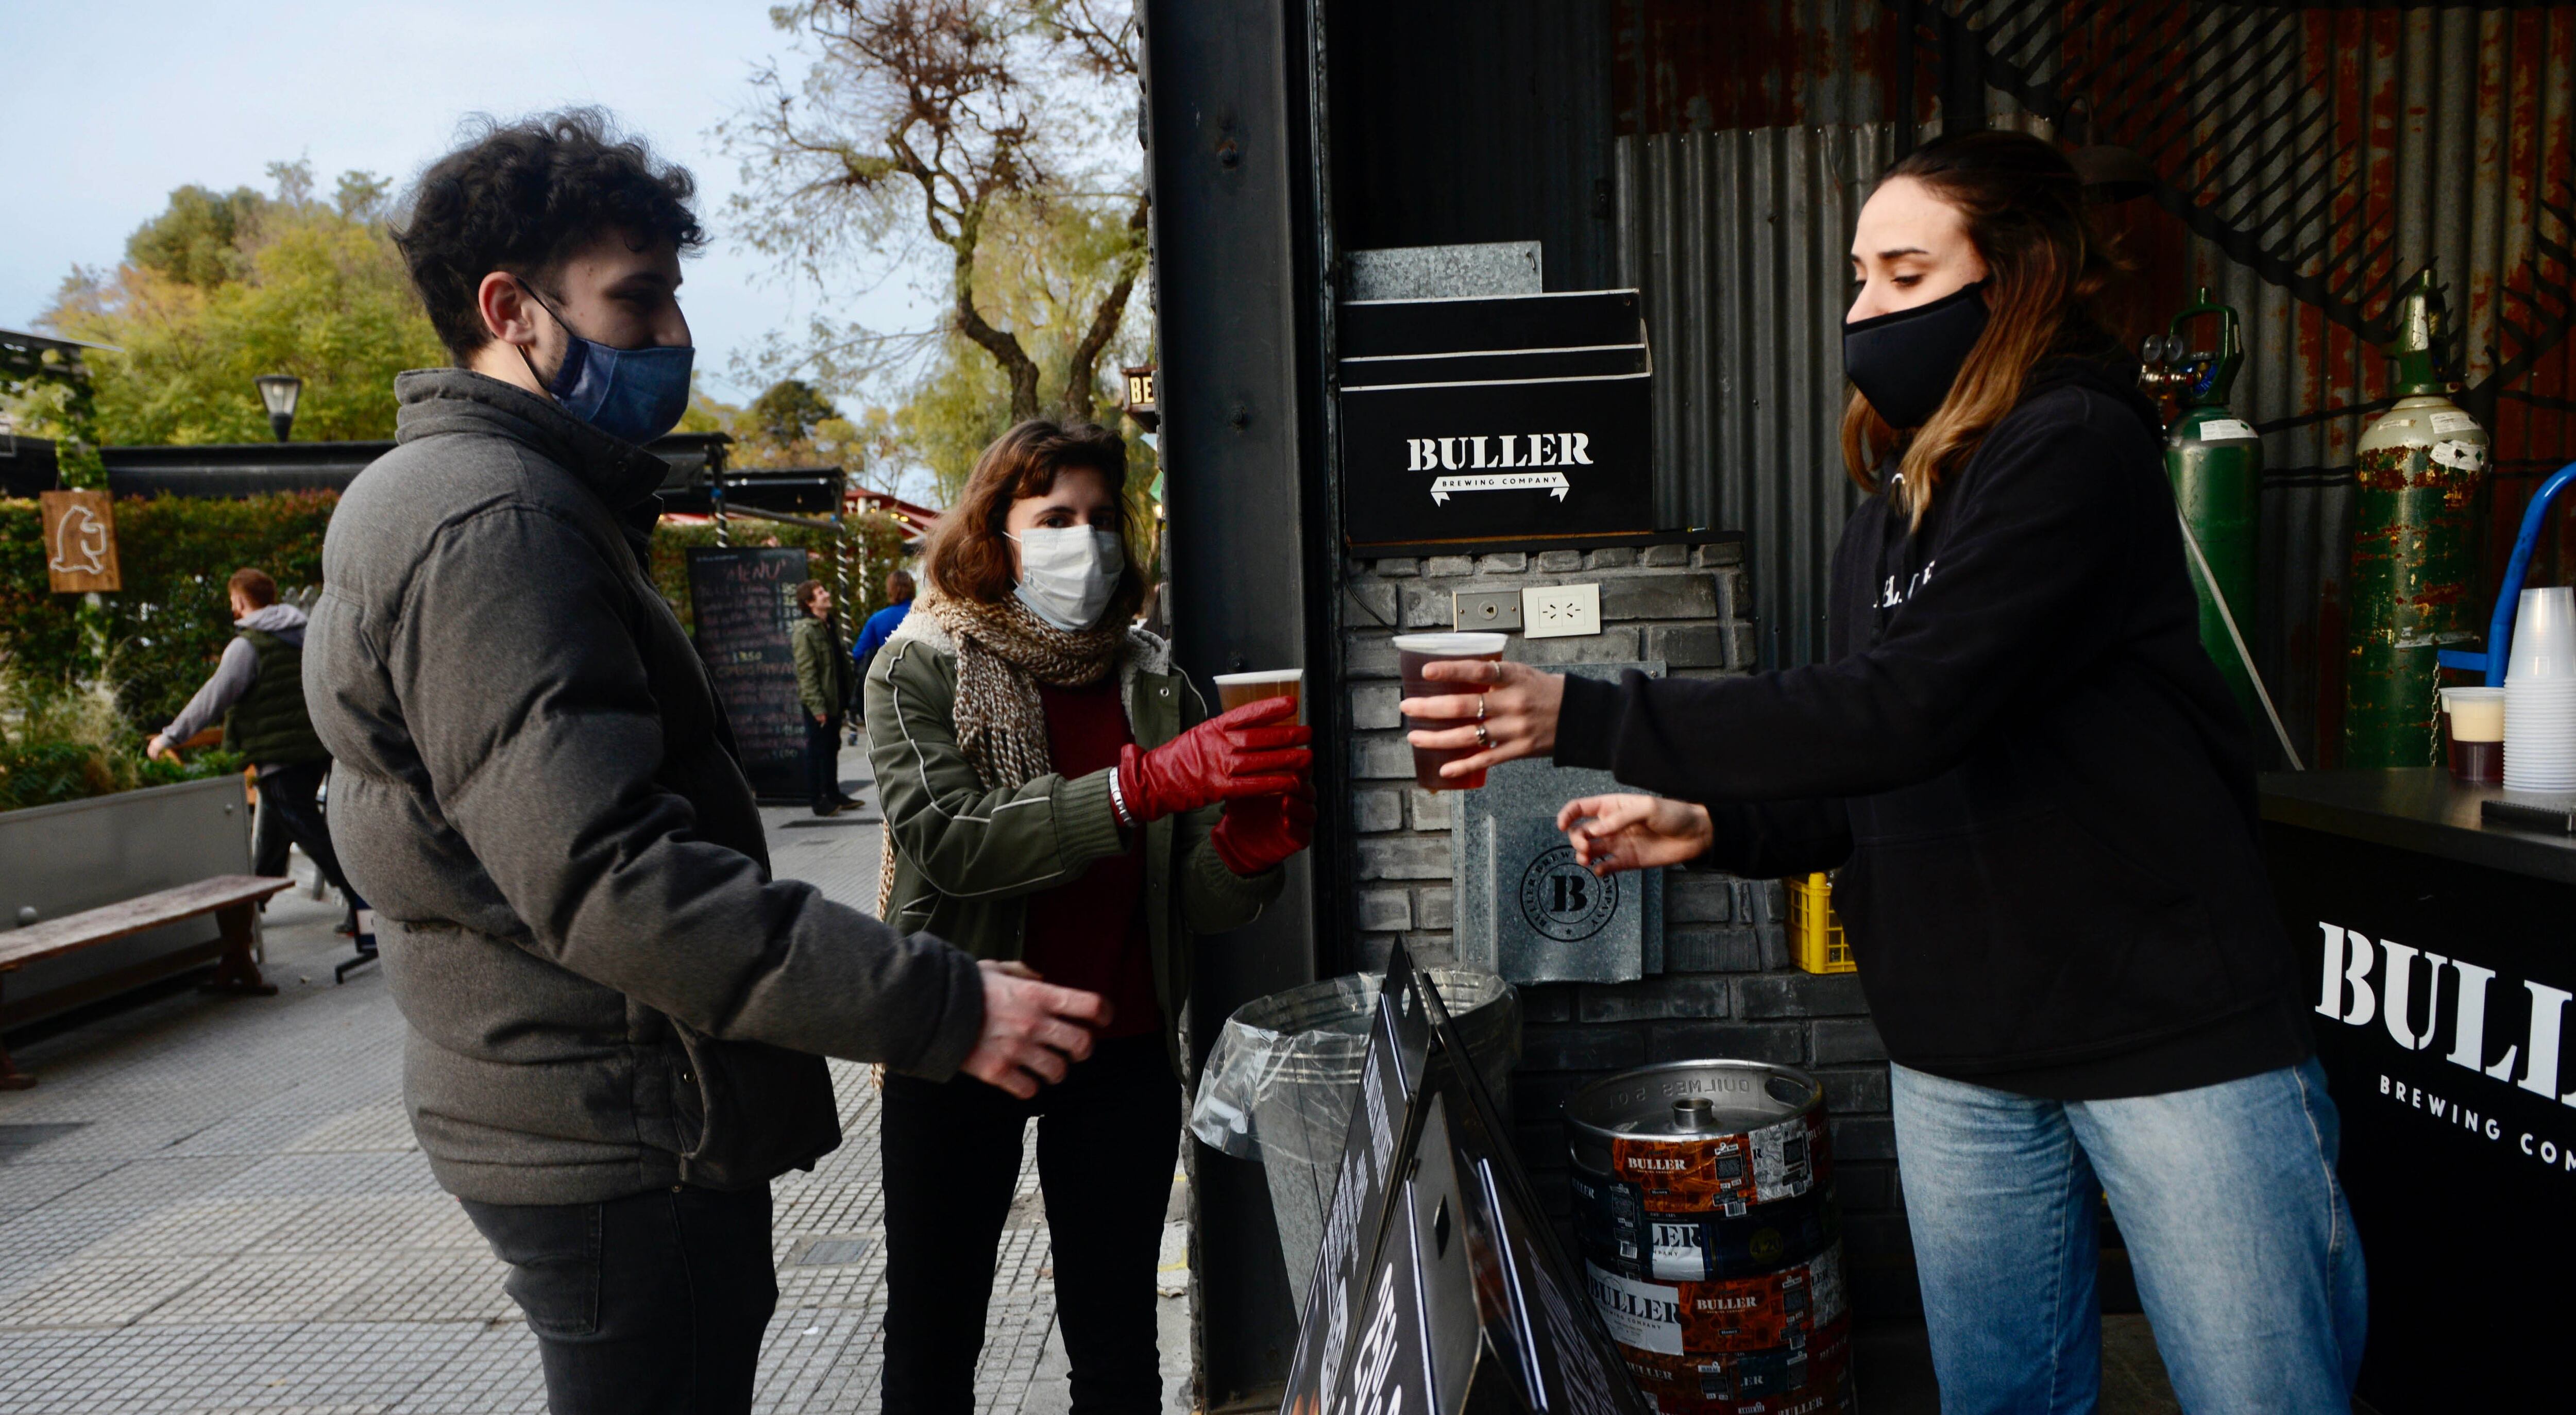
{"type": "Polygon", "coordinates": [[[1651,1415],[1399,943],[1280,1415],[1651,1415]]]}

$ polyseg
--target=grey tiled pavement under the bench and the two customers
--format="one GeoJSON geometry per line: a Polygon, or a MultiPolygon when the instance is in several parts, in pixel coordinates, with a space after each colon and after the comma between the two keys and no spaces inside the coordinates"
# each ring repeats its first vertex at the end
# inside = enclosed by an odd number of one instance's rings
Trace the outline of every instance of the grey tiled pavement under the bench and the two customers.
{"type": "MultiPolygon", "coordinates": [[[[762,814],[781,876],[866,907],[873,791],[858,753],[842,768],[860,820],[762,814]]],[[[0,1093],[0,1415],[544,1410],[502,1266],[412,1144],[384,977],[332,985],[332,923],[301,892],[276,900],[276,997],[173,992],[18,1046],[44,1083],[0,1093]]],[[[876,1410],[876,1090],[858,1064],[832,1080],[848,1142],[775,1186],[762,1412],[876,1410]]],[[[1036,1162],[1020,1188],[976,1407],[1054,1415],[1069,1392],[1036,1162]]],[[[1164,1389],[1185,1412],[1188,1296],[1167,1276],[1164,1389]]]]}

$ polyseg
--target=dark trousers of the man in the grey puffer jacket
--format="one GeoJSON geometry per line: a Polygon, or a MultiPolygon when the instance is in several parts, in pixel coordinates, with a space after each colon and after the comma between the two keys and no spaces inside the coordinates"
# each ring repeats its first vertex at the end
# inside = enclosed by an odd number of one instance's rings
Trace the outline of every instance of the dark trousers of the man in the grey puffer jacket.
{"type": "Polygon", "coordinates": [[[768,1186],[464,1204],[510,1276],[551,1415],[739,1415],[778,1307],[768,1186]]]}

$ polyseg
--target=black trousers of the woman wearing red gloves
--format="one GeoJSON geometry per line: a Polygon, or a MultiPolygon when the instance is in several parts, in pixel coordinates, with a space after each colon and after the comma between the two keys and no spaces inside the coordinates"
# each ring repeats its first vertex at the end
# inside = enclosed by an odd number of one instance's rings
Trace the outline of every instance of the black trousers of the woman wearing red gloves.
{"type": "Polygon", "coordinates": [[[886,1415],[969,1415],[1020,1129],[1038,1188],[1074,1415],[1154,1415],[1154,1263],[1180,1152],[1180,1083],[1159,1034],[1103,1041],[1018,1101],[974,1077],[886,1077],[886,1415]]]}

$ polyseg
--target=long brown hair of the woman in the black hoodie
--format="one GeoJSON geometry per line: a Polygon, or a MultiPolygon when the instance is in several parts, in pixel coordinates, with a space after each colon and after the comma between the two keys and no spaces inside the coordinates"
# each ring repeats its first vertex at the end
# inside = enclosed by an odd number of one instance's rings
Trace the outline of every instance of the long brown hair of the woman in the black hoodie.
{"type": "Polygon", "coordinates": [[[1878,492],[1878,464],[1899,451],[1899,497],[1914,526],[1932,490],[1976,454],[2022,399],[2030,369],[2069,345],[2099,343],[2094,299],[2120,276],[2117,253],[2084,217],[2084,183],[2066,155],[2022,131],[1971,131],[1927,142],[1880,186],[1911,178],[1958,209],[1986,260],[1986,332],[1958,369],[1950,397],[1911,436],[1852,389],[1842,405],[1842,467],[1878,492]]]}

